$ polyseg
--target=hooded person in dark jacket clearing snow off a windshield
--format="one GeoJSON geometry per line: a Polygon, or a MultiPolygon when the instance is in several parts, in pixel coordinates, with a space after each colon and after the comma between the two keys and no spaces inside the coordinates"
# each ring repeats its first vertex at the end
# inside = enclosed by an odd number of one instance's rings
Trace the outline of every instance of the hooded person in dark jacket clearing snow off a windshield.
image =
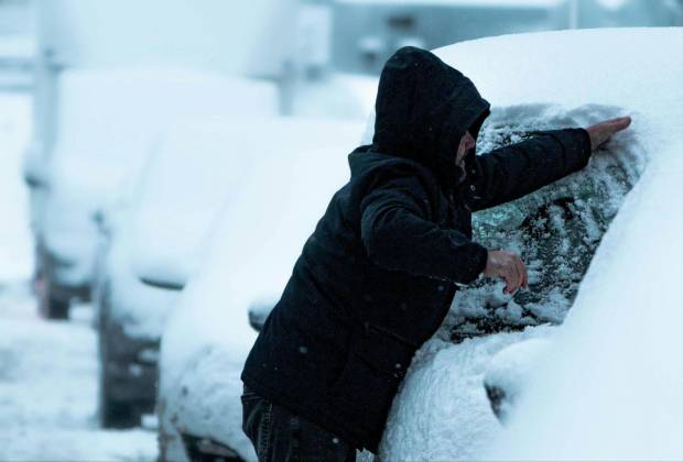
{"type": "Polygon", "coordinates": [[[404,47],[387,62],[372,144],[349,155],[350,180],[306,241],[242,371],[243,430],[259,460],[377,452],[413,354],[458,285],[481,274],[503,279],[509,294],[528,285],[518,255],[473,241],[471,212],[579,170],[630,123],[541,132],[475,155],[488,114],[474,84],[434,54],[404,47]]]}

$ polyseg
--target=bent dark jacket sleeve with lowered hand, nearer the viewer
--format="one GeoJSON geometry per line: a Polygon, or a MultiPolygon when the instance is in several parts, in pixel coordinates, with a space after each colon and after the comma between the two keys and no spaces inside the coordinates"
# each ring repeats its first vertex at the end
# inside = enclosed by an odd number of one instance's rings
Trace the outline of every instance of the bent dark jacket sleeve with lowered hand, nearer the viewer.
{"type": "Polygon", "coordinates": [[[370,260],[390,271],[468,284],[486,267],[487,250],[429,220],[430,198],[415,176],[376,183],[360,204],[361,240],[370,260]]]}

